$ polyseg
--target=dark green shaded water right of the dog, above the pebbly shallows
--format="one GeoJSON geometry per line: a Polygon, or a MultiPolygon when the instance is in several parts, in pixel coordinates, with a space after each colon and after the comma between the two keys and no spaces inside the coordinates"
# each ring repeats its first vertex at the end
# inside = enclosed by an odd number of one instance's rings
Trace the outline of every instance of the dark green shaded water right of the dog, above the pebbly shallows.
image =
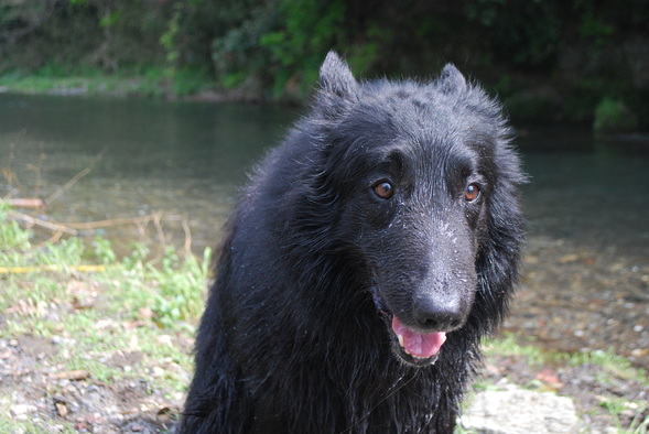
{"type": "Polygon", "coordinates": [[[649,145],[596,142],[565,127],[532,130],[518,143],[531,175],[523,203],[532,236],[618,246],[649,261],[649,145]]]}

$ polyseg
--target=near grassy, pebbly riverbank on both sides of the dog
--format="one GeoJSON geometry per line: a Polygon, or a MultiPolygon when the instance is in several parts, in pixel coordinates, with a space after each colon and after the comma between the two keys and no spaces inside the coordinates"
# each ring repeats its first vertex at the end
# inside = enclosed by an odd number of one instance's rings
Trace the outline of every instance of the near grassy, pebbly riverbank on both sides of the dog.
{"type": "MultiPolygon", "coordinates": [[[[118,259],[101,238],[32,245],[6,206],[0,228],[1,431],[172,430],[191,379],[207,254],[134,246],[118,259]]],[[[523,315],[528,279],[515,306],[523,315]]],[[[574,399],[580,432],[646,432],[647,373],[610,350],[548,350],[509,333],[485,352],[476,391],[552,391],[574,399]]]]}

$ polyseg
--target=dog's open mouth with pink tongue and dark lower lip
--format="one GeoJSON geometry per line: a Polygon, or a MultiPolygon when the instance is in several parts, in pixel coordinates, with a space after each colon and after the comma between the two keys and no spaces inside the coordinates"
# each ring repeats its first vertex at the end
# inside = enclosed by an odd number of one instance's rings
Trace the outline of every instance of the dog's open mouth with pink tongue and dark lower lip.
{"type": "Polygon", "coordinates": [[[394,352],[404,362],[417,367],[434,364],[442,345],[446,341],[446,333],[418,332],[403,325],[397,316],[388,311],[376,289],[374,300],[388,325],[394,352]]]}

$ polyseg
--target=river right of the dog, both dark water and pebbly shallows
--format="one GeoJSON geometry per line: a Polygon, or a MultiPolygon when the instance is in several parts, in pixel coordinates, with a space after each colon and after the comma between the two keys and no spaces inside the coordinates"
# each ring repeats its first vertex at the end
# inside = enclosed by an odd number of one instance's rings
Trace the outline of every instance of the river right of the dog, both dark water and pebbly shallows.
{"type": "Polygon", "coordinates": [[[545,348],[613,348],[648,368],[649,148],[574,128],[521,135],[529,242],[504,328],[545,348]]]}

